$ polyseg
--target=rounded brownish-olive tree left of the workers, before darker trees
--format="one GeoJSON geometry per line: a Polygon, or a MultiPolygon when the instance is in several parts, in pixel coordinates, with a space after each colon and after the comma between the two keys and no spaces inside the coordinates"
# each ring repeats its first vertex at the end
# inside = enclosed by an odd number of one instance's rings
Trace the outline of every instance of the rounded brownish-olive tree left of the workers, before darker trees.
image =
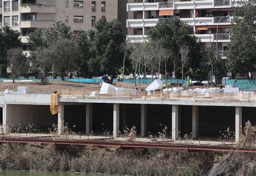
{"type": "Polygon", "coordinates": [[[64,78],[65,72],[73,72],[77,69],[80,53],[77,44],[69,39],[59,39],[49,47],[49,58],[52,61],[53,70],[64,78]]]}

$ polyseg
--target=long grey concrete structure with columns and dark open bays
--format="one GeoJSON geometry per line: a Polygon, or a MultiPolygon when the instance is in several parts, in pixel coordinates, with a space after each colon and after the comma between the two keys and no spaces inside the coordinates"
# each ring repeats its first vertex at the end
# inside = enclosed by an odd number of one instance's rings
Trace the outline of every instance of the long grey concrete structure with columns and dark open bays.
{"type": "Polygon", "coordinates": [[[84,98],[83,96],[75,98],[61,95],[58,115],[51,115],[50,94],[15,93],[0,95],[0,106],[3,109],[2,122],[5,131],[10,128],[25,130],[29,124],[33,124],[33,129],[47,131],[54,123],[58,124],[58,131],[61,133],[62,124],[69,122],[69,128],[76,126],[77,130],[89,134],[91,131],[95,133],[98,126],[100,129],[100,124],[104,121],[106,123],[104,125],[110,124],[106,126],[110,133],[113,129],[113,137],[119,136],[120,124],[123,129],[127,124],[137,124],[137,127],[140,125],[140,129],[137,130],[142,137],[147,137],[149,131],[161,131],[162,129],[157,129],[161,123],[163,126],[165,124],[172,126],[169,130],[174,140],[178,139],[179,132],[184,134],[192,131],[193,138],[199,138],[202,132],[202,134],[218,136],[220,130],[224,131],[230,126],[230,129],[235,131],[235,140],[238,141],[244,122],[250,119],[253,125],[256,123],[256,101],[214,102],[182,99],[174,101],[160,98],[84,98]],[[131,105],[137,105],[138,110],[134,106],[131,109],[131,105]],[[78,106],[79,108],[76,108],[78,106]],[[165,107],[159,109],[163,106],[165,107]],[[97,115],[99,111],[103,112],[102,117],[97,115]],[[156,115],[153,116],[154,112],[156,115]],[[120,115],[123,116],[122,123],[119,121],[120,115]],[[80,116],[79,119],[77,116],[80,116]],[[135,118],[131,122],[133,116],[135,118]]]}

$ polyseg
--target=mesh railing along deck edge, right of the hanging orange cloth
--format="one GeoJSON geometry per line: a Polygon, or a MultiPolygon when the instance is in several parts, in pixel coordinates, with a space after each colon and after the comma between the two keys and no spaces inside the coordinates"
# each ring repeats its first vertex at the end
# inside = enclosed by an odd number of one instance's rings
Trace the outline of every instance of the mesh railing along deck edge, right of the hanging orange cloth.
{"type": "Polygon", "coordinates": [[[125,90],[106,91],[100,94],[99,90],[65,89],[60,91],[60,98],[97,98],[122,100],[166,100],[166,101],[208,101],[208,102],[256,102],[256,93],[197,93],[192,91],[145,91],[125,90]]]}

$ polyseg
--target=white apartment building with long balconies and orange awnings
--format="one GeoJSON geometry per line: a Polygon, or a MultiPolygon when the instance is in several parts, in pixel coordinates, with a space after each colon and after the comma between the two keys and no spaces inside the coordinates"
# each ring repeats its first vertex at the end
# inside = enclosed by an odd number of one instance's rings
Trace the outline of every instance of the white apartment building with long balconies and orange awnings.
{"type": "Polygon", "coordinates": [[[217,50],[225,55],[235,4],[237,0],[135,0],[127,3],[127,12],[133,12],[133,18],[127,19],[126,26],[132,32],[126,39],[130,43],[148,41],[150,27],[176,16],[193,27],[195,36],[206,47],[218,39],[217,50]]]}

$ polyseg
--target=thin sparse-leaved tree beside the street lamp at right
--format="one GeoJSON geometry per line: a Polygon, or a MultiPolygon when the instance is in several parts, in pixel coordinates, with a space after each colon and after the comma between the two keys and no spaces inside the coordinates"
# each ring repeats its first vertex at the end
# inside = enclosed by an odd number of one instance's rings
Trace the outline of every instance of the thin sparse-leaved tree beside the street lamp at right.
{"type": "Polygon", "coordinates": [[[211,75],[210,75],[210,80],[211,80],[211,87],[213,87],[213,69],[215,65],[217,64],[217,59],[216,59],[216,53],[215,53],[215,46],[211,45],[210,47],[206,48],[204,53],[203,53],[203,58],[204,58],[204,65],[207,66],[207,68],[211,68],[211,75]]]}

